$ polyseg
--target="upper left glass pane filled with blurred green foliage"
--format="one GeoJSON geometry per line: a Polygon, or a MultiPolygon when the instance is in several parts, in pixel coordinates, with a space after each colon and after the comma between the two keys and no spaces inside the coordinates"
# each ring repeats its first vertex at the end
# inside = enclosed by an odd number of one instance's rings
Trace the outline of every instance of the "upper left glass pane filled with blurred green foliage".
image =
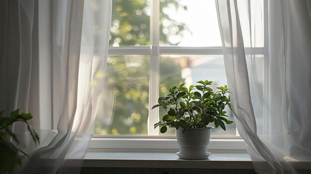
{"type": "Polygon", "coordinates": [[[150,45],[150,0],[113,0],[110,47],[150,45]]]}

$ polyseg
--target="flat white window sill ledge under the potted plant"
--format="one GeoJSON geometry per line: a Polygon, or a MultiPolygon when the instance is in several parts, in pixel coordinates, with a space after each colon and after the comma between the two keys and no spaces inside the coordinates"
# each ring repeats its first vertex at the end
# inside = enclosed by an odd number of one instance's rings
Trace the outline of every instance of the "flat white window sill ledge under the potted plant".
{"type": "Polygon", "coordinates": [[[248,154],[211,154],[206,160],[182,160],[175,153],[88,152],[83,167],[253,169],[248,154]]]}

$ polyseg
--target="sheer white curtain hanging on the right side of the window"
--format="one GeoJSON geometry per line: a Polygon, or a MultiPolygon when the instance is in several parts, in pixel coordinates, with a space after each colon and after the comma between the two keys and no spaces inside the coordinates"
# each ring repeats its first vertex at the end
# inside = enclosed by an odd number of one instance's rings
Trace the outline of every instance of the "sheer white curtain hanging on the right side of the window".
{"type": "Polygon", "coordinates": [[[216,0],[234,119],[257,173],[296,173],[289,161],[311,160],[311,3],[269,1],[268,80],[258,88],[256,55],[244,51],[261,37],[258,1],[216,0]]]}

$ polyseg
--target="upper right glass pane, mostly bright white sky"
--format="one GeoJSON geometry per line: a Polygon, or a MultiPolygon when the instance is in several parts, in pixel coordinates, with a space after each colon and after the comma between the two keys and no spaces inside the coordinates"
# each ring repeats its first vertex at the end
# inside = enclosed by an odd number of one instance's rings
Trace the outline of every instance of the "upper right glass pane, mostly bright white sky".
{"type": "Polygon", "coordinates": [[[161,0],[160,46],[221,47],[214,0],[161,0]]]}

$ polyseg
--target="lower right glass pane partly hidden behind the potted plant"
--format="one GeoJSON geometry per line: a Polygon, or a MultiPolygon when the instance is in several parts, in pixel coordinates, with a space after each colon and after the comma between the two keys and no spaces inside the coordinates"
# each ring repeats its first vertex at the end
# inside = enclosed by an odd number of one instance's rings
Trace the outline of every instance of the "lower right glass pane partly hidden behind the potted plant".
{"type": "MultiPolygon", "coordinates": [[[[159,95],[165,96],[171,86],[177,86],[180,83],[196,85],[197,81],[213,81],[210,86],[214,91],[216,87],[227,84],[223,56],[161,56],[160,57],[160,84],[159,95]]],[[[230,109],[226,110],[230,120],[233,120],[233,114],[230,109]]],[[[159,110],[160,120],[164,116],[163,110],[159,110]]],[[[211,126],[214,126],[212,123],[211,126]]],[[[212,129],[212,135],[233,135],[235,136],[235,124],[226,125],[226,131],[222,128],[212,129]]],[[[168,129],[165,134],[175,135],[174,128],[168,129]]]]}

